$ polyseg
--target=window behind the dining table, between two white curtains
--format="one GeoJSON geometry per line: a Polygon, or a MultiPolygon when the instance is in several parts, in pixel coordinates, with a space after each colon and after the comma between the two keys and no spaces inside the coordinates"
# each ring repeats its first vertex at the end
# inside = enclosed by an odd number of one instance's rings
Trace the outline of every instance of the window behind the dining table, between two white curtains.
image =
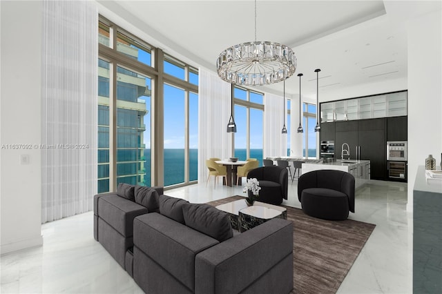
{"type": "Polygon", "coordinates": [[[233,90],[234,117],[237,132],[234,137],[235,157],[240,160],[256,158],[262,165],[262,133],[264,95],[235,86],[233,90]]]}

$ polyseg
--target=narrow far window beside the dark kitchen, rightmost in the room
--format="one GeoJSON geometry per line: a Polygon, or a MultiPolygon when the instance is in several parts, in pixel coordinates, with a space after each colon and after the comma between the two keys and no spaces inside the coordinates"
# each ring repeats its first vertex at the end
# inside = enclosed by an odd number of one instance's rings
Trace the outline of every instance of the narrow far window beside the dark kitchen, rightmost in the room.
{"type": "Polygon", "coordinates": [[[302,133],[302,156],[316,158],[316,105],[304,103],[303,107],[304,133],[302,133]]]}

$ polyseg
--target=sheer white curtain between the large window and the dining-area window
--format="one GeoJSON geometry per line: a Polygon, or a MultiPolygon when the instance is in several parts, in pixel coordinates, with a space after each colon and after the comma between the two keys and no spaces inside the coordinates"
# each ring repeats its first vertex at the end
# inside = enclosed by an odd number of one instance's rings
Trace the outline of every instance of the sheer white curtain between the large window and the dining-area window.
{"type": "Polygon", "coordinates": [[[198,182],[204,183],[209,173],[206,159],[231,157],[232,133],[227,133],[231,84],[222,81],[215,72],[205,68],[199,70],[198,182]]]}

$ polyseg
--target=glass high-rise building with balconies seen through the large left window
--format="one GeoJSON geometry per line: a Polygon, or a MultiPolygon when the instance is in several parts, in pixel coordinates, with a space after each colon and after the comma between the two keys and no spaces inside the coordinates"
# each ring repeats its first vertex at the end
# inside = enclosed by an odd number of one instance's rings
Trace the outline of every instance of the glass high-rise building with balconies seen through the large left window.
{"type": "MultiPolygon", "coordinates": [[[[100,30],[99,43],[109,42],[106,33],[100,30]]],[[[124,43],[124,40],[119,39],[117,46],[119,52],[137,59],[138,50],[124,43]]],[[[109,191],[109,77],[110,63],[99,59],[98,193],[109,191]]],[[[144,118],[148,115],[146,103],[150,104],[151,99],[148,82],[150,79],[147,77],[117,66],[117,184],[150,185],[150,177],[144,177],[150,162],[144,144],[144,118]]],[[[146,139],[150,141],[150,138],[146,139]]]]}

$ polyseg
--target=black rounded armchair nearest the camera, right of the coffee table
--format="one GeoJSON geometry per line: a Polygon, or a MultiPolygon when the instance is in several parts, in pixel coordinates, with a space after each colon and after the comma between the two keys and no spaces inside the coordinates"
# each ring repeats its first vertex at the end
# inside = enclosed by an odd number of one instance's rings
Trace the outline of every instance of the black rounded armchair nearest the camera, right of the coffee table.
{"type": "Polygon", "coordinates": [[[298,199],[307,215],[347,219],[354,213],[354,177],[340,170],[314,170],[298,180],[298,199]]]}

